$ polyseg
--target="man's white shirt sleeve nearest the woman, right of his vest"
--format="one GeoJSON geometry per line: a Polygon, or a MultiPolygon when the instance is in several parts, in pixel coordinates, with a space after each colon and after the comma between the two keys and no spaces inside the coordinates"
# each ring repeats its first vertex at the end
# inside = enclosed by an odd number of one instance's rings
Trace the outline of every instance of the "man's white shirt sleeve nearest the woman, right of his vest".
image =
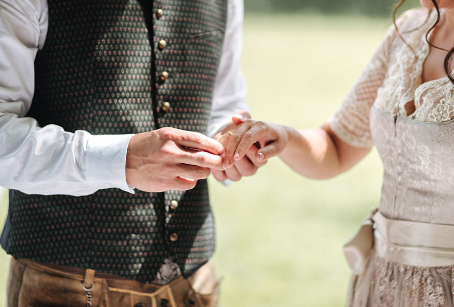
{"type": "Polygon", "coordinates": [[[229,0],[222,55],[214,84],[208,136],[232,120],[241,110],[249,111],[245,103],[246,82],[241,71],[243,49],[243,0],[229,0]]]}

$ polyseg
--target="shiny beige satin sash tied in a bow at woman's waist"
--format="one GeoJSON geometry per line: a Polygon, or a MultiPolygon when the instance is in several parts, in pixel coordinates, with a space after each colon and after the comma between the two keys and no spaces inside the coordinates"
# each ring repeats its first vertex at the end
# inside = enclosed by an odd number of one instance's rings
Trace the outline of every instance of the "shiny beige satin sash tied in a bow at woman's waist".
{"type": "Polygon", "coordinates": [[[348,305],[353,297],[358,276],[366,268],[373,247],[377,256],[401,265],[452,266],[454,225],[392,220],[374,209],[356,234],[344,245],[344,254],[353,273],[348,305]]]}

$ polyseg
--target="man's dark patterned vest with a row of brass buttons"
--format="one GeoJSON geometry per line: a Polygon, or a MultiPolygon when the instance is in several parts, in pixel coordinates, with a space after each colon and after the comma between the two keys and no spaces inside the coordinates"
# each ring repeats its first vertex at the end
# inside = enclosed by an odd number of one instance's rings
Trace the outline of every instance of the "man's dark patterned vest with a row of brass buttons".
{"type": "MultiPolygon", "coordinates": [[[[95,135],[206,133],[226,0],[48,3],[28,116],[95,135]]],[[[16,257],[153,282],[169,262],[190,276],[214,250],[205,180],[186,192],[11,195],[2,242],[16,257]]]]}

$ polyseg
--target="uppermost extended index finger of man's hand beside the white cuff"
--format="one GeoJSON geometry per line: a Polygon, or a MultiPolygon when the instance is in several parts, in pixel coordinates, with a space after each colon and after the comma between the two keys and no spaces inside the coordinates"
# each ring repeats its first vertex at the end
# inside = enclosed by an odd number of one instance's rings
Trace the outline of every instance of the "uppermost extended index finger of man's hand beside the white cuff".
{"type": "Polygon", "coordinates": [[[218,141],[193,131],[178,130],[176,141],[181,146],[211,152],[214,155],[221,155],[224,152],[224,146],[218,141]]]}

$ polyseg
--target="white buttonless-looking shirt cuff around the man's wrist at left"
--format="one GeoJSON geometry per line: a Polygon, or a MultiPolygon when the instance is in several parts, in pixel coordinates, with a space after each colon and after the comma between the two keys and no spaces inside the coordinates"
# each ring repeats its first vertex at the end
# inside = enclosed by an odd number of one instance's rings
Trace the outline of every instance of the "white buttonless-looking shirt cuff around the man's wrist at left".
{"type": "Polygon", "coordinates": [[[126,183],[126,153],[133,135],[90,135],[85,152],[86,180],[99,189],[119,188],[134,193],[126,183]]]}

